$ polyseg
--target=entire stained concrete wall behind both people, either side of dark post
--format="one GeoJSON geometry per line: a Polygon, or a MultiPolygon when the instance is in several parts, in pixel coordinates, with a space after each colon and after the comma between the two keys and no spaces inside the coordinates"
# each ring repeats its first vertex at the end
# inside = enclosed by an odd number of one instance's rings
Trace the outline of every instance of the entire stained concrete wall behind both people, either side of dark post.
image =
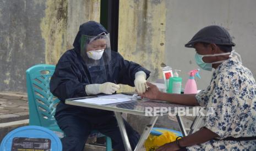
{"type": "MultiPolygon", "coordinates": [[[[161,63],[187,72],[198,68],[194,50],[184,44],[200,28],[221,25],[237,44],[243,65],[256,74],[256,1],[120,1],[119,53],[150,69],[151,81],[162,77],[161,63]]],[[[25,92],[25,71],[37,63],[55,64],[72,48],[81,23],[99,21],[100,0],[0,1],[0,91],[25,92]]],[[[201,71],[199,89],[211,73],[201,71]]],[[[122,91],[132,91],[124,88],[122,91]]]]}

